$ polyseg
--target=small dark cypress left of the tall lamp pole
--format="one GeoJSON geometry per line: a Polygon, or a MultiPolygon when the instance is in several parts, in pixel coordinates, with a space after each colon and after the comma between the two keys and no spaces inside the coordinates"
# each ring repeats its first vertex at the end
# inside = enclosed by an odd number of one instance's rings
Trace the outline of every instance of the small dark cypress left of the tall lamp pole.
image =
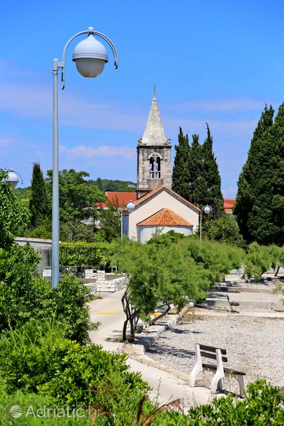
{"type": "Polygon", "coordinates": [[[36,228],[48,216],[46,183],[39,163],[33,165],[32,197],[30,199],[31,227],[36,228]]]}

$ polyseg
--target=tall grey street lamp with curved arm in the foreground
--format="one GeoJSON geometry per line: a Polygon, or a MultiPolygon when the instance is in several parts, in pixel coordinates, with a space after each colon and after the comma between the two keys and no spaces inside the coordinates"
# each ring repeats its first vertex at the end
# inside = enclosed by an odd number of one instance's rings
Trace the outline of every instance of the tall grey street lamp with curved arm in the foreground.
{"type": "Polygon", "coordinates": [[[89,27],[68,40],[62,55],[62,61],[53,60],[53,174],[52,174],[52,288],[59,283],[59,170],[58,170],[58,69],[61,68],[61,88],[65,87],[66,52],[70,43],[78,36],[87,34],[87,38],[75,47],[72,60],[79,73],[88,78],[98,77],[108,62],[106,48],[94,36],[101,37],[111,47],[114,55],[114,68],[118,68],[118,56],[112,41],[102,33],[89,27]]]}

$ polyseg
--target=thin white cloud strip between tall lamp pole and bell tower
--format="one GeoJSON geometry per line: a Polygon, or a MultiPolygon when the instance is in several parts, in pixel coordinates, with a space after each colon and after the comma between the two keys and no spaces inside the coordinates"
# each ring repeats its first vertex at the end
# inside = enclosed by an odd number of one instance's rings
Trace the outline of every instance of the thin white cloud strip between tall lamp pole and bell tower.
{"type": "Polygon", "coordinates": [[[74,148],[67,148],[60,145],[59,150],[72,158],[122,157],[128,160],[135,160],[136,158],[136,149],[129,146],[117,147],[104,145],[94,148],[92,146],[80,145],[74,148]]]}

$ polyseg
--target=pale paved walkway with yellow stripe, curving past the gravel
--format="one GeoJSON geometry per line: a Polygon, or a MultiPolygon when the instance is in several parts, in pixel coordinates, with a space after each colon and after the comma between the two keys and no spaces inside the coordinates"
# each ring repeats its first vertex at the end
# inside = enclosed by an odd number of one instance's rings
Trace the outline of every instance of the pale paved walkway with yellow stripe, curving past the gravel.
{"type": "MultiPolygon", "coordinates": [[[[103,299],[95,300],[90,304],[92,321],[100,321],[98,330],[90,332],[93,343],[103,346],[103,349],[116,352],[119,344],[106,341],[113,331],[122,331],[125,314],[122,309],[121,298],[123,290],[116,293],[103,293],[103,299]]],[[[129,345],[130,346],[130,345],[129,345]]],[[[151,398],[158,397],[159,403],[166,403],[171,399],[181,398],[185,410],[193,405],[205,404],[211,399],[210,390],[205,387],[191,388],[187,382],[167,371],[154,366],[146,365],[129,356],[127,363],[130,371],[140,371],[143,380],[147,381],[153,390],[151,398]]]]}

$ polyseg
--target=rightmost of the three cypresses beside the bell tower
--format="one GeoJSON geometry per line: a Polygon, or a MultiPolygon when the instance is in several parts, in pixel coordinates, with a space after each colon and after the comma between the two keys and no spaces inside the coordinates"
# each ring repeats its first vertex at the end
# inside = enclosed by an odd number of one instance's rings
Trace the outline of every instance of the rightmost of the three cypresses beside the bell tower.
{"type": "Polygon", "coordinates": [[[203,178],[207,185],[206,198],[203,199],[202,204],[209,204],[212,207],[211,218],[219,218],[224,212],[224,199],[221,192],[221,177],[213,152],[213,138],[210,133],[208,123],[207,137],[202,145],[203,152],[203,178]]]}

